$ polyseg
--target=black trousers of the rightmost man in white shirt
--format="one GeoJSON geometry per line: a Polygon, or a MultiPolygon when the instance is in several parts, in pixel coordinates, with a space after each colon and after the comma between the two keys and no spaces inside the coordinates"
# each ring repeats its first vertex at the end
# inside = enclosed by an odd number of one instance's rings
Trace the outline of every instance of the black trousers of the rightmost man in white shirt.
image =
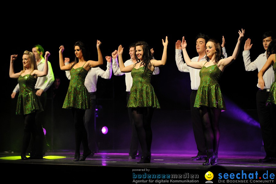
{"type": "Polygon", "coordinates": [[[256,94],[257,112],[263,137],[263,147],[266,156],[276,157],[276,123],[275,106],[266,106],[266,100],[270,92],[258,90],[256,94]],[[274,110],[274,112],[273,112],[274,110]]]}

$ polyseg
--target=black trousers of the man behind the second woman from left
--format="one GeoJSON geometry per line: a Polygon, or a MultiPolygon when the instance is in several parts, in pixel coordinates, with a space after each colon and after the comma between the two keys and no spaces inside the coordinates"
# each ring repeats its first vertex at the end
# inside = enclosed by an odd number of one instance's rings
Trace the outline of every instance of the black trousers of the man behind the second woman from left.
{"type": "Polygon", "coordinates": [[[92,152],[98,152],[98,145],[95,134],[95,109],[96,109],[96,92],[90,92],[92,109],[85,110],[84,126],[87,131],[88,145],[92,152]]]}

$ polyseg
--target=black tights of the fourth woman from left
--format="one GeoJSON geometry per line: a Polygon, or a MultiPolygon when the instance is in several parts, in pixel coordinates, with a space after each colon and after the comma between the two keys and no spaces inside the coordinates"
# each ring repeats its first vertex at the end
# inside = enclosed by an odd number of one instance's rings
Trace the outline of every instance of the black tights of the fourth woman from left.
{"type": "Polygon", "coordinates": [[[202,117],[207,155],[212,155],[218,151],[220,142],[220,119],[221,109],[202,107],[200,114],[202,117]]]}

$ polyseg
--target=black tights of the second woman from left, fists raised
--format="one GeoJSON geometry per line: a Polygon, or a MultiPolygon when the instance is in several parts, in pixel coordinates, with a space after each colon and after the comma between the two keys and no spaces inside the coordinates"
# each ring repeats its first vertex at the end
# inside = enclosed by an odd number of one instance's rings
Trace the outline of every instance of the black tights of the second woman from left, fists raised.
{"type": "Polygon", "coordinates": [[[74,116],[74,125],[75,125],[75,153],[79,153],[80,145],[82,143],[83,152],[87,153],[89,151],[88,140],[87,140],[87,132],[84,127],[83,117],[85,114],[84,109],[75,109],[72,108],[72,113],[74,116]]]}

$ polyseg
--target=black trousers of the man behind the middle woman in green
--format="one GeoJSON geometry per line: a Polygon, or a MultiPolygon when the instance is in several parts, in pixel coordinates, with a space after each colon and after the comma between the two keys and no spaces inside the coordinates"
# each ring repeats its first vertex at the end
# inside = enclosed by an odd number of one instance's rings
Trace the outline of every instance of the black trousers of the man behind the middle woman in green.
{"type": "MultiPolygon", "coordinates": [[[[129,95],[130,92],[127,92],[127,103],[128,103],[128,99],[129,99],[129,95]]],[[[137,135],[137,131],[135,128],[135,124],[132,118],[132,111],[131,108],[128,108],[128,118],[129,118],[129,122],[130,122],[130,127],[131,127],[131,140],[130,140],[130,149],[129,149],[129,155],[137,155],[137,150],[139,150],[140,153],[142,153],[141,150],[141,146],[139,144],[139,139],[138,139],[138,135],[137,135]]]]}

